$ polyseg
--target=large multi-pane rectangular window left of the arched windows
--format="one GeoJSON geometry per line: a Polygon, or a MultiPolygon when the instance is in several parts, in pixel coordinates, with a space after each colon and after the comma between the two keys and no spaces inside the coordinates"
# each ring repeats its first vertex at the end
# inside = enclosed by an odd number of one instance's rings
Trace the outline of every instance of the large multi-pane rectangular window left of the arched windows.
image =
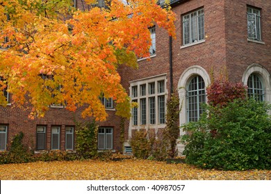
{"type": "Polygon", "coordinates": [[[132,125],[165,124],[165,78],[133,82],[131,98],[138,103],[132,109],[132,125]]]}

